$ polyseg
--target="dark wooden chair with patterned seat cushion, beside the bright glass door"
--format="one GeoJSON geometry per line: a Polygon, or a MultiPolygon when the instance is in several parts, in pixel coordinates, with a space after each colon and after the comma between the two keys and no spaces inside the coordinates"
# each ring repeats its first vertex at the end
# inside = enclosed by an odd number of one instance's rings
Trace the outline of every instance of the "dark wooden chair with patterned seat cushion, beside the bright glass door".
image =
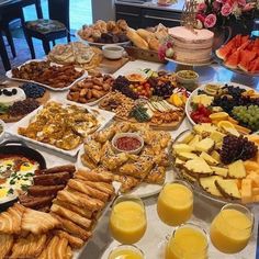
{"type": "Polygon", "coordinates": [[[32,58],[35,58],[33,37],[42,40],[46,55],[50,52],[49,42],[55,45],[55,40],[63,37],[70,42],[69,0],[48,0],[48,14],[49,20],[38,19],[23,24],[32,58]]]}

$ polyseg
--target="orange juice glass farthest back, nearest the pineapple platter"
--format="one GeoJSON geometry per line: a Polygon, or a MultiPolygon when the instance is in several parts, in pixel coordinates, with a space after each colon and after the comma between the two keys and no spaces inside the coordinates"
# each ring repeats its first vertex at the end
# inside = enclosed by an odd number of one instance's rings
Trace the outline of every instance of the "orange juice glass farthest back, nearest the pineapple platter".
{"type": "Polygon", "coordinates": [[[165,184],[157,201],[157,213],[169,226],[179,226],[190,219],[193,211],[192,188],[184,181],[176,180],[165,184]]]}

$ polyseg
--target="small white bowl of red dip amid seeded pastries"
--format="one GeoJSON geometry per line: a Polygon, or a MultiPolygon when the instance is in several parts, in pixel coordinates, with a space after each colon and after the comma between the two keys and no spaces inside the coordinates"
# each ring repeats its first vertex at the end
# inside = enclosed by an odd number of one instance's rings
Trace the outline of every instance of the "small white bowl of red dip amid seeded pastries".
{"type": "Polygon", "coordinates": [[[144,147],[144,139],[137,133],[119,133],[112,138],[112,147],[116,153],[137,155],[144,147]]]}

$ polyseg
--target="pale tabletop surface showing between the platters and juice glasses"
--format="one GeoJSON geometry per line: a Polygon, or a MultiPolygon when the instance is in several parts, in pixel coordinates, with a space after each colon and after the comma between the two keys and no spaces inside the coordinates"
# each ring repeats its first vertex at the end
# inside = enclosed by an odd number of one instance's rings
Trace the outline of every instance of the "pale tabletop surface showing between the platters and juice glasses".
{"type": "MultiPolygon", "coordinates": [[[[161,65],[156,63],[148,63],[143,60],[135,60],[130,61],[124,65],[120,70],[117,70],[114,76],[123,75],[125,71],[134,70],[138,68],[150,68],[153,70],[174,70],[176,66],[173,64],[161,65]]],[[[249,77],[237,77],[229,72],[228,70],[217,66],[212,65],[209,67],[200,68],[198,70],[200,74],[200,83],[207,82],[207,81],[219,81],[219,82],[228,82],[230,80],[238,81],[239,83],[248,85],[257,90],[259,90],[259,81],[256,78],[249,77]]],[[[8,81],[10,85],[16,85],[15,81],[8,81]]],[[[52,98],[56,100],[65,100],[67,91],[65,92],[54,92],[50,91],[52,98]]],[[[8,126],[11,126],[9,124],[8,126]]],[[[190,128],[191,124],[189,123],[188,119],[185,117],[180,127],[177,131],[171,132],[173,138],[178,136],[181,132],[190,128]]],[[[5,138],[10,138],[10,136],[5,136],[5,138]]],[[[60,155],[54,150],[49,150],[40,146],[31,145],[33,148],[40,150],[42,155],[45,157],[47,167],[54,167],[58,165],[65,165],[68,162],[76,162],[76,157],[68,157],[65,155],[60,155]]],[[[145,236],[142,238],[139,243],[136,244],[144,252],[147,259],[157,259],[162,258],[162,248],[164,241],[166,240],[166,236],[172,233],[172,228],[166,226],[159,218],[156,212],[156,202],[157,195],[150,196],[144,200],[146,205],[147,212],[147,232],[145,236]]],[[[194,199],[194,212],[191,218],[191,222],[194,222],[202,226],[204,229],[209,232],[211,222],[213,217],[218,213],[222,204],[214,203],[211,200],[206,200],[204,198],[199,196],[195,194],[194,199]]],[[[255,227],[251,240],[249,241],[248,246],[237,255],[225,255],[216,250],[213,245],[210,244],[209,247],[209,258],[211,259],[234,259],[234,258],[256,258],[256,248],[257,248],[257,232],[258,232],[258,217],[259,217],[259,206],[252,205],[251,211],[255,214],[255,227]]],[[[108,258],[110,250],[117,245],[111,236],[109,235],[108,230],[108,221],[109,221],[109,213],[106,213],[100,224],[98,225],[97,229],[94,230],[92,239],[88,243],[85,249],[79,254],[78,258],[108,258]]]]}

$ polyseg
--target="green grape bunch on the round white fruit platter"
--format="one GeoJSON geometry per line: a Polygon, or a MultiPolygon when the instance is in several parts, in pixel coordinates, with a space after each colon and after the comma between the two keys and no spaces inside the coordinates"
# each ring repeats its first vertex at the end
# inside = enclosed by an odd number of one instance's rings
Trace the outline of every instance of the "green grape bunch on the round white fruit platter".
{"type": "Polygon", "coordinates": [[[259,105],[235,106],[232,110],[232,114],[251,131],[259,131],[259,105]]]}

